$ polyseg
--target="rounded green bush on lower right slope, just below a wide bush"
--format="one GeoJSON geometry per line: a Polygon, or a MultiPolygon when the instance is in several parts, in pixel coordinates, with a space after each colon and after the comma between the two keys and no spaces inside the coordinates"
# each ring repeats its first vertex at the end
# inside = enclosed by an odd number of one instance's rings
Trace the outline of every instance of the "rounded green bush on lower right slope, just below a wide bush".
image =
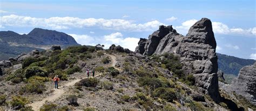
{"type": "Polygon", "coordinates": [[[173,100],[177,100],[177,95],[173,88],[159,87],[153,91],[152,95],[153,97],[166,99],[169,102],[172,102],[173,100]]]}

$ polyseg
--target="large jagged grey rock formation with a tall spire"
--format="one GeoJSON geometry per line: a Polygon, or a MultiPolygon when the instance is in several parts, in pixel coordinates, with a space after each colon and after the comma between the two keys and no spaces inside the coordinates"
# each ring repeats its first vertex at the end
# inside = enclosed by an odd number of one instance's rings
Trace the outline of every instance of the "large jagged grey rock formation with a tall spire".
{"type": "Polygon", "coordinates": [[[183,36],[172,26],[159,26],[158,31],[149,36],[149,40],[140,39],[135,52],[143,55],[173,53],[180,56],[184,63],[184,72],[194,73],[196,85],[219,102],[218,63],[215,53],[216,41],[210,19],[197,21],[183,36]],[[142,47],[144,46],[144,52],[142,47]]]}

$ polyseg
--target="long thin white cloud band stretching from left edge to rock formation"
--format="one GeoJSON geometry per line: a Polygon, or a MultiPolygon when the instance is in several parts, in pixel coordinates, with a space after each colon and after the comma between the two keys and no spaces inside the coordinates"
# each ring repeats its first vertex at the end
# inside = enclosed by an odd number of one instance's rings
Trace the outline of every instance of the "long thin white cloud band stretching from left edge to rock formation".
{"type": "Polygon", "coordinates": [[[76,18],[76,17],[51,17],[51,18],[34,18],[27,16],[10,16],[0,17],[2,26],[19,26],[19,27],[46,27],[52,29],[68,29],[83,27],[99,27],[102,29],[112,29],[116,31],[154,31],[159,25],[164,25],[157,20],[149,21],[144,24],[136,24],[131,20],[124,19],[103,19],[103,18],[76,18]]]}

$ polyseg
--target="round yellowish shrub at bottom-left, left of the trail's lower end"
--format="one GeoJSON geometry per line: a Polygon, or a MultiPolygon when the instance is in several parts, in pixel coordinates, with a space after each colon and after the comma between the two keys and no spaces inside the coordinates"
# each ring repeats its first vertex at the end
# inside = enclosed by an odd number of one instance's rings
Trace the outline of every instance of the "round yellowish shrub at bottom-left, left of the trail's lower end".
{"type": "Polygon", "coordinates": [[[12,100],[10,101],[12,108],[16,108],[15,110],[24,108],[26,103],[29,103],[28,99],[23,98],[21,96],[14,96],[14,97],[12,97],[12,100]]]}

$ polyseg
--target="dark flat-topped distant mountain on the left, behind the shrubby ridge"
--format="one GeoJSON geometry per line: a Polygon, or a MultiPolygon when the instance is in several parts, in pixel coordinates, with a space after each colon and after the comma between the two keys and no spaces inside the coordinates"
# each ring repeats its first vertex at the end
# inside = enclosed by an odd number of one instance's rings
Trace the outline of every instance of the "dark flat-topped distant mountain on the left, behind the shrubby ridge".
{"type": "Polygon", "coordinates": [[[9,57],[28,53],[33,49],[48,49],[52,45],[65,48],[79,44],[68,34],[42,28],[34,28],[29,34],[22,35],[13,31],[0,31],[0,60],[8,60],[9,57]]]}

